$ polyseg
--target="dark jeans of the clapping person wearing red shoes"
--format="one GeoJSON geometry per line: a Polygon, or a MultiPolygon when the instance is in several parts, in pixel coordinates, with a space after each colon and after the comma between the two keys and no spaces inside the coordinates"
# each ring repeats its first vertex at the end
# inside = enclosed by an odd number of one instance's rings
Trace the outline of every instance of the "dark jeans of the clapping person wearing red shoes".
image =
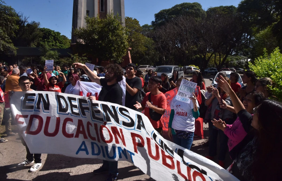
{"type": "Polygon", "coordinates": [[[213,123],[209,122],[209,156],[214,157],[216,156],[217,150],[217,135],[219,134],[219,155],[218,160],[224,161],[226,151],[228,149],[227,142],[228,137],[224,134],[224,132],[220,129],[215,129],[213,123]]]}

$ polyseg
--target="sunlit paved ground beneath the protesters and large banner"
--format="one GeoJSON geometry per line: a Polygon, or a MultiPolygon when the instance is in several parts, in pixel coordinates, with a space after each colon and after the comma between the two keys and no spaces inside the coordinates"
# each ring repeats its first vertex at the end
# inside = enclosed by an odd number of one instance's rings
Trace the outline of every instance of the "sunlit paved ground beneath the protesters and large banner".
{"type": "MultiPolygon", "coordinates": [[[[191,75],[185,77],[191,78],[191,75]]],[[[206,85],[210,85],[211,81],[205,77],[206,85]]],[[[3,128],[0,126],[0,132],[3,133],[3,128]]],[[[15,126],[13,126],[16,129],[15,126]]],[[[203,147],[202,143],[208,139],[208,126],[204,124],[205,139],[194,137],[193,146],[191,151],[206,156],[208,147],[203,147]]],[[[4,128],[5,130],[5,128],[4,128]]],[[[16,131],[16,130],[15,130],[16,131]]],[[[2,135],[1,136],[5,136],[2,135]]],[[[164,133],[164,138],[169,139],[167,134],[164,133]]],[[[105,180],[107,174],[93,175],[92,171],[101,166],[102,160],[88,159],[88,158],[72,158],[63,155],[55,154],[42,154],[42,166],[33,173],[28,173],[30,166],[17,168],[19,162],[25,160],[26,151],[25,147],[21,144],[19,136],[8,137],[9,141],[0,144],[0,180],[20,181],[20,180],[105,180]]],[[[217,160],[215,160],[217,162],[217,160]]],[[[226,156],[226,167],[230,165],[231,159],[226,156]]],[[[153,180],[148,175],[137,169],[135,166],[126,161],[121,161],[118,164],[119,176],[118,180],[153,180]]]]}

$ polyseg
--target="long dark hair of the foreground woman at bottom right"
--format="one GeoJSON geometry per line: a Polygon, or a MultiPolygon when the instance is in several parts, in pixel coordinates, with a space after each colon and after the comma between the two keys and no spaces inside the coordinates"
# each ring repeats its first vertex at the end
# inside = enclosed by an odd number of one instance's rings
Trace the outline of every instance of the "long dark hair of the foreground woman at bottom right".
{"type": "Polygon", "coordinates": [[[282,104],[265,100],[258,109],[257,150],[252,166],[254,180],[281,180],[282,104]],[[262,171],[261,168],[264,170],[262,171]]]}

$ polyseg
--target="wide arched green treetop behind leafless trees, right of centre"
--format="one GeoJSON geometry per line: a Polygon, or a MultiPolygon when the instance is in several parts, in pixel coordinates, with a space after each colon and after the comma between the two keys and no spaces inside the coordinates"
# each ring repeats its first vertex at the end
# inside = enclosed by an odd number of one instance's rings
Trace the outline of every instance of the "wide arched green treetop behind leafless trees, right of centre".
{"type": "Polygon", "coordinates": [[[196,19],[201,19],[205,15],[200,3],[181,3],[169,9],[160,10],[155,14],[155,21],[152,21],[153,26],[161,26],[167,21],[179,16],[189,16],[196,19]]]}

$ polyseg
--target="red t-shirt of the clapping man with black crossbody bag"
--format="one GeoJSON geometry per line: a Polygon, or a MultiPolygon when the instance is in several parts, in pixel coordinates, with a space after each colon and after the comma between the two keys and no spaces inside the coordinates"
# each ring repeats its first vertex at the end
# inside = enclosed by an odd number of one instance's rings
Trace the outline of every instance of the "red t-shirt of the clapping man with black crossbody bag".
{"type": "MultiPolygon", "coordinates": [[[[147,116],[153,126],[153,128],[162,128],[164,127],[164,125],[162,124],[162,117],[160,120],[158,121],[154,121],[150,118],[150,113],[149,113],[149,107],[147,107],[147,100],[149,98],[149,93],[146,93],[143,101],[142,101],[142,105],[145,106],[145,109],[144,109],[144,114],[145,116],[147,116]]],[[[153,95],[151,94],[151,104],[156,106],[157,108],[162,108],[162,109],[165,109],[166,110],[166,107],[168,105],[168,101],[166,100],[166,96],[163,94],[163,93],[160,93],[158,95],[153,95]]]]}

